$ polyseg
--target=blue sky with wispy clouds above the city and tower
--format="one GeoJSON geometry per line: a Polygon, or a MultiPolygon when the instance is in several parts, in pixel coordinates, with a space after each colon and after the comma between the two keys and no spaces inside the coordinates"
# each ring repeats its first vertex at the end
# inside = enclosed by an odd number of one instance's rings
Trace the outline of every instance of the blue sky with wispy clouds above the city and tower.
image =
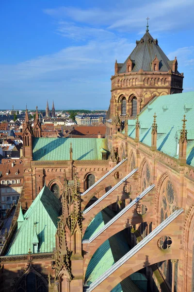
{"type": "Polygon", "coordinates": [[[194,91],[194,0],[0,2],[0,109],[107,109],[115,59],[146,31],[194,91]]]}

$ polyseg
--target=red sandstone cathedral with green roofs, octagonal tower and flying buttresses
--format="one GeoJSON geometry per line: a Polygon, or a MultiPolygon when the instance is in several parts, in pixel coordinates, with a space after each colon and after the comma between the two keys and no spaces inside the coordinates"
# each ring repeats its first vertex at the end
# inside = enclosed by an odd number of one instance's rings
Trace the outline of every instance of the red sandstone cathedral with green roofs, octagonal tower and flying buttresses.
{"type": "Polygon", "coordinates": [[[0,291],[194,291],[194,92],[182,90],[147,25],[115,62],[106,138],[41,137],[26,110],[0,291]]]}

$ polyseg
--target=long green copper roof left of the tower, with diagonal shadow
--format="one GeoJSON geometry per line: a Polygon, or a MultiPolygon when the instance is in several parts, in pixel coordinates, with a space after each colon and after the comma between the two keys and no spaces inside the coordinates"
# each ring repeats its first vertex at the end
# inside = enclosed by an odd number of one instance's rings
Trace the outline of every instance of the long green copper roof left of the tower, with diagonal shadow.
{"type": "Polygon", "coordinates": [[[103,138],[33,138],[33,160],[69,160],[70,143],[73,160],[102,160],[101,148],[108,149],[103,138]]]}

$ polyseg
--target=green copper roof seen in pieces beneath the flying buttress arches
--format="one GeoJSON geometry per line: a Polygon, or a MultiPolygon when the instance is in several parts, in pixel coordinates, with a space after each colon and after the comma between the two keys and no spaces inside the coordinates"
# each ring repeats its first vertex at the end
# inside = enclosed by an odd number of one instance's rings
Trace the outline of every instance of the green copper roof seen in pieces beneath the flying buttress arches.
{"type": "MultiPolygon", "coordinates": [[[[105,208],[97,214],[88,226],[84,239],[90,238],[114,216],[114,212],[105,208]]],[[[92,256],[85,275],[87,285],[94,282],[101,274],[105,273],[115,262],[129,251],[129,245],[123,232],[119,232],[106,240],[92,256]]],[[[112,292],[140,292],[141,290],[131,281],[130,277],[114,287],[112,292]]]]}

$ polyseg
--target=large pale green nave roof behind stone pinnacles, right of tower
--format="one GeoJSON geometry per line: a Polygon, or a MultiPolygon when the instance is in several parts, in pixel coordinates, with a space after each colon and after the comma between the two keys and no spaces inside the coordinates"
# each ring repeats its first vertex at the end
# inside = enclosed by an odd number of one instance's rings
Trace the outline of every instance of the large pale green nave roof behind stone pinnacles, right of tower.
{"type": "MultiPolygon", "coordinates": [[[[139,114],[140,141],[151,146],[151,126],[156,112],[158,125],[157,149],[178,158],[177,148],[183,115],[188,130],[187,164],[194,166],[194,91],[158,96],[139,114]],[[185,105],[189,105],[185,108],[185,105]],[[168,105],[163,107],[163,105],[168,105]]],[[[135,126],[128,126],[128,135],[135,138],[135,126]]]]}

